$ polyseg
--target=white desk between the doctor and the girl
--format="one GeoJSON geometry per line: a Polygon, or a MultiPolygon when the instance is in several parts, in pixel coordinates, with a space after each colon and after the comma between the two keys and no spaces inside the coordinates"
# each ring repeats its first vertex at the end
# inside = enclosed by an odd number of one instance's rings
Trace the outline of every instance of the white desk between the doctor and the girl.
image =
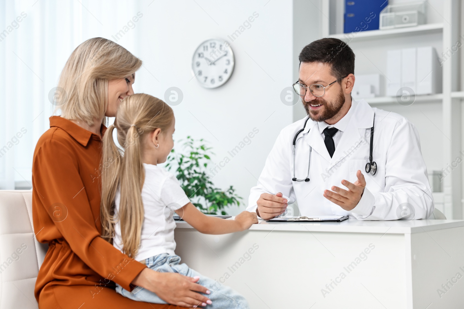
{"type": "Polygon", "coordinates": [[[247,231],[225,235],[201,234],[181,221],[175,240],[183,262],[237,290],[252,309],[464,304],[461,220],[260,220],[247,231]]]}

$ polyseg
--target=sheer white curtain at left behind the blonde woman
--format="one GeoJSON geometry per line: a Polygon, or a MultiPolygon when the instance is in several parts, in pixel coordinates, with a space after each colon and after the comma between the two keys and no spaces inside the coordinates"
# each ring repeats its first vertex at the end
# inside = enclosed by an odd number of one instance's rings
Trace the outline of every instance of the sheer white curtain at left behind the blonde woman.
{"type": "MultiPolygon", "coordinates": [[[[48,95],[72,50],[88,38],[115,40],[141,7],[125,0],[0,0],[0,189],[31,187],[33,151],[54,110],[48,95]]],[[[137,54],[136,33],[118,44],[137,54]]]]}

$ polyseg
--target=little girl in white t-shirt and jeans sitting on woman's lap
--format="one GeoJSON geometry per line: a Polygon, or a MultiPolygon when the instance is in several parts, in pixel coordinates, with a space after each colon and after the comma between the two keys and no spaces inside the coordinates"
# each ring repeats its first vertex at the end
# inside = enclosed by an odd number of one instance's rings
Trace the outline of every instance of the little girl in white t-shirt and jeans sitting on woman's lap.
{"type": "MultiPolygon", "coordinates": [[[[155,271],[200,277],[197,283],[210,290],[210,300],[198,306],[247,309],[243,296],[223,285],[217,288],[213,279],[180,264],[180,257],[174,253],[173,210],[207,234],[243,231],[258,223],[257,215],[244,211],[235,220],[225,220],[206,216],[193,206],[174,175],[157,165],[166,162],[174,146],[173,133],[173,110],[160,99],[135,94],[120,103],[114,125],[108,127],[103,137],[103,237],[155,271]],[[114,128],[123,151],[114,143],[114,128]]],[[[116,291],[137,301],[166,303],[142,287],[129,292],[116,285],[116,291]]]]}

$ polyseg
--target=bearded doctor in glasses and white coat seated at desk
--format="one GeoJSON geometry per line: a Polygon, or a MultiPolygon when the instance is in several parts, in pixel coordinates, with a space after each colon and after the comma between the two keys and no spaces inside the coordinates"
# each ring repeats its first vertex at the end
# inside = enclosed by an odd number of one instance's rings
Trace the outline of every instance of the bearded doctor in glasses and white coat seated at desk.
{"type": "Polygon", "coordinates": [[[299,60],[294,89],[308,116],[278,135],[247,210],[268,220],[297,202],[304,216],[428,218],[433,199],[419,134],[405,117],[352,100],[353,50],[322,38],[299,60]]]}

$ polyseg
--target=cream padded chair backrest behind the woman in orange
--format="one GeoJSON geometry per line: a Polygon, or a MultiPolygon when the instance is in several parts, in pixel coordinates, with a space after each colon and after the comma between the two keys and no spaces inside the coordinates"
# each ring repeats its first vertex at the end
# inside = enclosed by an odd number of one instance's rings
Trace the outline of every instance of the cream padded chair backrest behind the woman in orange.
{"type": "Polygon", "coordinates": [[[32,190],[0,190],[0,309],[38,308],[34,286],[47,249],[35,238],[32,190]]]}

